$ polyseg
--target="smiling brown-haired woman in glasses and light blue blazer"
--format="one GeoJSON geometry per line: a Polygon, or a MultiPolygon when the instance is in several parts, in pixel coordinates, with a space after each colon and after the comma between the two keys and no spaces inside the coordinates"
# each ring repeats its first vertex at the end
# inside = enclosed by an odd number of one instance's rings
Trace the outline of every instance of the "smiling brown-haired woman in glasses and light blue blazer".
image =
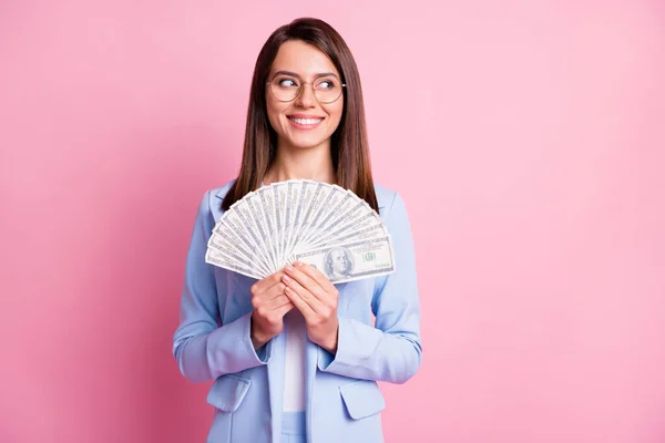
{"type": "Polygon", "coordinates": [[[416,373],[419,321],[409,219],[401,197],[372,182],[354,58],[329,24],[295,20],[258,55],[238,177],[203,197],[187,255],[173,353],[188,380],[215,381],[207,441],[382,442],[377,381],[416,373]],[[289,178],[364,198],[391,235],[397,271],[335,286],[297,262],[259,281],[207,265],[224,210],[289,178]]]}

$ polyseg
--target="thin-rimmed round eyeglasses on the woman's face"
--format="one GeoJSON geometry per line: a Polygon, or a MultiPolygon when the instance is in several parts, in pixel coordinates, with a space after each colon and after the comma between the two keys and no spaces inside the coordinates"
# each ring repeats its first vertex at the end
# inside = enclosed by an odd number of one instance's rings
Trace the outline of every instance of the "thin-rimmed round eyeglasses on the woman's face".
{"type": "Polygon", "coordinates": [[[346,84],[341,83],[337,75],[325,75],[314,82],[304,82],[291,75],[279,74],[266,82],[270,94],[280,102],[296,100],[303,93],[303,86],[306,83],[311,85],[315,99],[325,104],[336,102],[341,96],[342,89],[346,87],[346,84]]]}

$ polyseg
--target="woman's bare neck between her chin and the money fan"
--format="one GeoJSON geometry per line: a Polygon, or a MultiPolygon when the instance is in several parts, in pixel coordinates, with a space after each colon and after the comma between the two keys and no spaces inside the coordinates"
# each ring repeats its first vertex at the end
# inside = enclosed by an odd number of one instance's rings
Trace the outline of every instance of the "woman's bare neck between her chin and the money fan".
{"type": "Polygon", "coordinates": [[[295,148],[277,144],[275,162],[264,177],[264,184],[306,178],[315,182],[337,183],[330,156],[330,142],[310,148],[295,148]]]}

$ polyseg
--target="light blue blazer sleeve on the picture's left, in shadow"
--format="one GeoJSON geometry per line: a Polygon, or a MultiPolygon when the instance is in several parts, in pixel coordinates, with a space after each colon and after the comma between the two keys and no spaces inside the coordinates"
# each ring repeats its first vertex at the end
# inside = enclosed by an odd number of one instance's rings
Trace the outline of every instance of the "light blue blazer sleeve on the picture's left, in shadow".
{"type": "Polygon", "coordinates": [[[185,266],[180,303],[180,324],[173,336],[173,356],[181,373],[193,382],[266,364],[273,343],[257,352],[252,344],[252,312],[222,324],[217,290],[225,291],[228,272],[217,272],[205,262],[207,240],[214,227],[208,190],[198,207],[185,266]]]}

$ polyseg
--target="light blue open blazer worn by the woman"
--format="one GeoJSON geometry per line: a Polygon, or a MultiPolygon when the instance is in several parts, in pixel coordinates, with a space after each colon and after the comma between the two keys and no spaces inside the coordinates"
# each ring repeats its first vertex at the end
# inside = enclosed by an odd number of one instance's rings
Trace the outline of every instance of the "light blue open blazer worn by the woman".
{"type": "MultiPolygon", "coordinates": [[[[207,394],[214,406],[208,443],[278,443],[285,331],[255,351],[249,338],[249,287],[256,279],[204,259],[232,184],[206,192],[198,207],[173,354],[186,379],[214,380],[207,394]]],[[[335,356],[307,341],[310,443],[382,442],[380,412],[386,402],[377,381],[403,383],[420,367],[420,305],[409,218],[399,194],[378,185],[375,189],[379,215],[392,237],[396,272],[337,285],[335,356]]]]}

